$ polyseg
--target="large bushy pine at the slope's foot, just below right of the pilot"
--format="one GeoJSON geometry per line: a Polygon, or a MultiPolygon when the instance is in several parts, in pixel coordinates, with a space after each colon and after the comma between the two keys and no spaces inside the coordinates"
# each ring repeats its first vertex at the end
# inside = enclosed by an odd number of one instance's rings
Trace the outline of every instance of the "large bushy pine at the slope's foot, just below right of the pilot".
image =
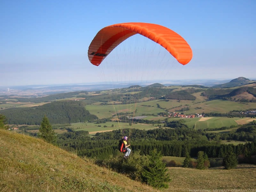
{"type": "Polygon", "coordinates": [[[145,165],[142,170],[142,180],[155,188],[168,188],[166,182],[170,181],[170,176],[166,173],[167,168],[161,157],[162,155],[156,149],[149,152],[149,165],[145,165]]]}

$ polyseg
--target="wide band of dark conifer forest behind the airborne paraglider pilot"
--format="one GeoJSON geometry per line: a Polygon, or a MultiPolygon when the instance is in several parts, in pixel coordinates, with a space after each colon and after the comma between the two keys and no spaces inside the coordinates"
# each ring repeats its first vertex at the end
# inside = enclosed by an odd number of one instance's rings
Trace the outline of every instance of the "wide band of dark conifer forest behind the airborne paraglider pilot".
{"type": "MultiPolygon", "coordinates": [[[[199,151],[204,151],[208,157],[224,158],[231,147],[234,153],[240,157],[240,162],[256,163],[253,155],[256,155],[255,123],[249,123],[238,129],[238,134],[253,134],[254,139],[246,144],[221,144],[213,138],[211,134],[201,130],[192,130],[186,127],[162,128],[153,130],[133,129],[130,134],[130,142],[133,151],[141,151],[148,154],[156,148],[165,156],[185,157],[188,153],[192,157],[197,157],[199,151]],[[253,127],[253,128],[252,128],[253,127]],[[250,132],[250,130],[252,130],[250,132]]],[[[70,130],[70,132],[75,132],[70,130]]],[[[118,140],[122,138],[123,132],[114,130],[112,132],[97,133],[95,137],[76,137],[72,139],[71,133],[59,134],[58,144],[68,151],[76,151],[80,156],[95,157],[104,159],[108,155],[116,154],[118,140]]],[[[74,135],[74,133],[72,133],[74,135]]],[[[128,135],[128,130],[124,130],[128,135]]],[[[221,136],[221,135],[220,135],[221,136]]]]}

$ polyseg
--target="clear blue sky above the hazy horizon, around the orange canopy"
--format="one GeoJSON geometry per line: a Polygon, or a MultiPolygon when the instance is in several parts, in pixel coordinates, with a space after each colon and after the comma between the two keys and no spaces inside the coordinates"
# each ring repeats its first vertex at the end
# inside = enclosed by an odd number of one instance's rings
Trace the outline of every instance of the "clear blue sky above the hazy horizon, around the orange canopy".
{"type": "Polygon", "coordinates": [[[256,79],[256,1],[0,1],[0,86],[103,81],[256,79]],[[88,47],[103,27],[156,23],[193,50],[185,66],[140,35],[99,67],[88,47]]]}

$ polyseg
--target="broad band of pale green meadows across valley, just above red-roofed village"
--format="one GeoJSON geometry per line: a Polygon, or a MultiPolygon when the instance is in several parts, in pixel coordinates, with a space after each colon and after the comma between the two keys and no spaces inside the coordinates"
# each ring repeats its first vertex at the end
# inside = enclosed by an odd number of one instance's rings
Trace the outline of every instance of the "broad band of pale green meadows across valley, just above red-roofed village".
{"type": "Polygon", "coordinates": [[[226,113],[233,110],[243,111],[250,108],[256,108],[256,103],[241,103],[234,101],[177,101],[177,100],[154,100],[145,101],[140,103],[125,104],[125,105],[87,105],[86,110],[91,114],[101,118],[108,118],[115,115],[118,112],[133,113],[134,116],[154,114],[157,115],[160,112],[177,112],[184,107],[188,107],[189,110],[185,111],[185,114],[197,114],[197,113],[209,113],[218,112],[226,113]],[[159,107],[158,107],[159,106],[159,107]],[[225,107],[223,107],[225,106],[225,107]],[[135,112],[136,111],[136,112],[135,112]]]}

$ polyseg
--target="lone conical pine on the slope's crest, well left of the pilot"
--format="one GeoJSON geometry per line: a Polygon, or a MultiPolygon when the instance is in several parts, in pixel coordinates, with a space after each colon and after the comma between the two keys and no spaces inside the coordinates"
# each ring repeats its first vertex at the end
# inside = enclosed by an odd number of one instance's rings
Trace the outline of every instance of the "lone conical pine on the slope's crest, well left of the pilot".
{"type": "Polygon", "coordinates": [[[55,142],[54,130],[46,116],[44,116],[39,128],[39,138],[42,138],[48,143],[55,142]]]}

